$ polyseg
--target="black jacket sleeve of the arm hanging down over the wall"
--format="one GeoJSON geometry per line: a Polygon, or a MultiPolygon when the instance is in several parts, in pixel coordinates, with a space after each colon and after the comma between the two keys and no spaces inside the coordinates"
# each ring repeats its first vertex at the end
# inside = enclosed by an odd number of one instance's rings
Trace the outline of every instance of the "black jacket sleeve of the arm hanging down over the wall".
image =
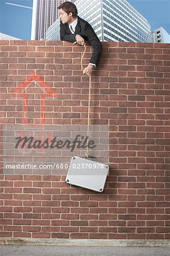
{"type": "Polygon", "coordinates": [[[102,53],[102,44],[99,41],[96,33],[94,32],[92,26],[90,26],[89,23],[86,23],[85,25],[85,36],[90,42],[90,44],[92,44],[93,46],[93,53],[92,53],[90,63],[94,63],[97,65],[102,53]]]}

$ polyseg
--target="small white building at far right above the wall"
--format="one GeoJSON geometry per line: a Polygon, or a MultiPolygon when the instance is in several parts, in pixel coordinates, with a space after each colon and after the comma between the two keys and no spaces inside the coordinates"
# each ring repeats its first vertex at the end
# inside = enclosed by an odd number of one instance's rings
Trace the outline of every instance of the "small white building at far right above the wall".
{"type": "Polygon", "coordinates": [[[154,43],[170,43],[170,35],[163,27],[156,28],[152,32],[152,38],[154,43]]]}

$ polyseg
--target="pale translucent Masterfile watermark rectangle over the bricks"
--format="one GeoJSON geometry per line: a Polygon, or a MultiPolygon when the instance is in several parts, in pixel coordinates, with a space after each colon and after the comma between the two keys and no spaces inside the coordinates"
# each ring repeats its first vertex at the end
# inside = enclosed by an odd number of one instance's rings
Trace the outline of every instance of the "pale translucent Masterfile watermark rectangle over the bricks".
{"type": "Polygon", "coordinates": [[[66,175],[71,157],[84,156],[87,149],[90,158],[107,164],[109,126],[90,125],[89,131],[87,136],[87,125],[6,124],[3,174],[66,175]]]}

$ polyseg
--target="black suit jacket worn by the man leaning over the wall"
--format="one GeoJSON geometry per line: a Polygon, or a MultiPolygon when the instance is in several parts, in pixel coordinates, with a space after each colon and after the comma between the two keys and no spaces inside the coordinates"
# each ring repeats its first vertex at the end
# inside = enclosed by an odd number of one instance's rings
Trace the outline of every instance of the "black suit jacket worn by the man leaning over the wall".
{"type": "Polygon", "coordinates": [[[94,50],[90,63],[97,65],[102,52],[102,44],[99,41],[97,35],[95,34],[92,26],[90,26],[90,24],[86,22],[86,20],[81,19],[79,16],[77,16],[77,18],[78,22],[76,25],[75,34],[72,34],[69,30],[68,23],[63,24],[62,22],[60,22],[60,39],[68,42],[75,42],[76,35],[81,35],[82,38],[92,44],[94,50]]]}

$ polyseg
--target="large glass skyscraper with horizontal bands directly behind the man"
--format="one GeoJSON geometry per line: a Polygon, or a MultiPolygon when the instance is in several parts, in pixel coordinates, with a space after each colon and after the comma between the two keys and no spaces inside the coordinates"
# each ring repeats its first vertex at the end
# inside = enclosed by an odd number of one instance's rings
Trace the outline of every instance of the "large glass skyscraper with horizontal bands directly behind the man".
{"type": "MultiPolygon", "coordinates": [[[[71,1],[72,2],[72,1],[71,1]]],[[[78,16],[92,25],[99,40],[152,42],[151,26],[126,0],[77,0],[78,16]]],[[[60,19],[48,28],[46,40],[60,40],[60,19]]]]}

